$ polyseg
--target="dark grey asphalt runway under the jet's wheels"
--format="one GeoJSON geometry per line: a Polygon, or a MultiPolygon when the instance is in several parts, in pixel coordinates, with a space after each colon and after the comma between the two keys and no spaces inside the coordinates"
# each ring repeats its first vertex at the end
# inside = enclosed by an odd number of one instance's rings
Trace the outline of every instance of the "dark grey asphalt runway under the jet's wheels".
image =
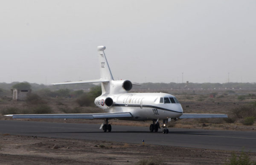
{"type": "Polygon", "coordinates": [[[112,125],[112,131],[103,132],[100,125],[81,123],[32,122],[0,120],[0,133],[12,135],[105,140],[111,142],[166,145],[229,151],[256,152],[256,131],[219,131],[204,129],[169,128],[149,132],[149,127],[112,125]]]}

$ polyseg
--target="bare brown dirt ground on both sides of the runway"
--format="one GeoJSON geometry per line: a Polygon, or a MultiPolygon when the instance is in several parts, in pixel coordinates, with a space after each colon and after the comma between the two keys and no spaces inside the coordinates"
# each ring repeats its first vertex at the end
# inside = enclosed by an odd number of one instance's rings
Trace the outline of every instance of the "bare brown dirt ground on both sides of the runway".
{"type": "MultiPolygon", "coordinates": [[[[180,91],[179,91],[180,92],[180,91]]],[[[246,97],[239,100],[239,95],[256,94],[256,90],[236,90],[235,94],[224,95],[225,91],[218,91],[216,97],[209,97],[212,91],[196,91],[192,94],[186,91],[175,94],[183,106],[184,113],[220,113],[232,114],[233,108],[255,102],[256,97],[246,97]]],[[[171,93],[171,92],[169,92],[171,93]]],[[[79,107],[74,98],[44,99],[53,113],[65,113],[80,108],[81,113],[103,112],[96,107],[79,107]]],[[[37,105],[29,105],[25,101],[0,100],[0,110],[8,108],[32,109],[37,105]]],[[[0,114],[1,120],[12,119],[0,114]]],[[[22,119],[44,122],[73,122],[101,124],[102,120],[84,119],[22,119]]],[[[110,120],[112,125],[146,126],[151,121],[134,122],[110,120]]],[[[241,120],[234,123],[224,122],[223,119],[179,119],[170,122],[169,127],[174,128],[201,128],[237,131],[256,131],[256,123],[243,125],[241,120]]],[[[89,164],[89,165],[119,165],[142,164],[140,161],[150,160],[155,164],[169,165],[198,165],[198,164],[224,164],[231,156],[232,151],[216,151],[195,148],[179,148],[159,145],[138,145],[121,142],[105,142],[77,139],[58,139],[42,137],[13,136],[0,134],[0,164],[89,164]]],[[[256,161],[256,153],[248,153],[256,161]]]]}

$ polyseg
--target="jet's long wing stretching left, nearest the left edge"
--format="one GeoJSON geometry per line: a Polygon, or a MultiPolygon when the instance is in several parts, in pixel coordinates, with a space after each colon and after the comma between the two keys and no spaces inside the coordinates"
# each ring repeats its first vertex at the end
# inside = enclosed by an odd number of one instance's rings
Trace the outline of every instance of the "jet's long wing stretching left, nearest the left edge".
{"type": "Polygon", "coordinates": [[[100,113],[100,114],[8,114],[13,119],[104,119],[131,118],[129,112],[100,113]]]}

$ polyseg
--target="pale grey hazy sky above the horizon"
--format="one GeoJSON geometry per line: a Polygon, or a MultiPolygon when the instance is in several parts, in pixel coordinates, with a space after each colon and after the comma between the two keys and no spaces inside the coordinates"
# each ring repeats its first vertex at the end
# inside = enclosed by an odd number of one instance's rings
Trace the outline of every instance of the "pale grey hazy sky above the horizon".
{"type": "Polygon", "coordinates": [[[1,0],[0,82],[256,82],[256,0],[1,0]]]}

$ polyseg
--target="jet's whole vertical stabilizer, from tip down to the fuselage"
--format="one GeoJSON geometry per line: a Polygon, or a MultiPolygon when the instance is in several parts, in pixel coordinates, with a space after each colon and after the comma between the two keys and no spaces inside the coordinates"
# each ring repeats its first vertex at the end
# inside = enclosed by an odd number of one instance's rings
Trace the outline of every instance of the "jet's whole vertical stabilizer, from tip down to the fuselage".
{"type": "Polygon", "coordinates": [[[113,79],[111,70],[108,65],[108,60],[105,56],[104,50],[106,49],[105,46],[98,46],[98,53],[99,53],[99,71],[100,71],[100,78],[104,80],[109,80],[109,82],[102,83],[102,94],[108,94],[110,91],[110,83],[113,79]]]}

